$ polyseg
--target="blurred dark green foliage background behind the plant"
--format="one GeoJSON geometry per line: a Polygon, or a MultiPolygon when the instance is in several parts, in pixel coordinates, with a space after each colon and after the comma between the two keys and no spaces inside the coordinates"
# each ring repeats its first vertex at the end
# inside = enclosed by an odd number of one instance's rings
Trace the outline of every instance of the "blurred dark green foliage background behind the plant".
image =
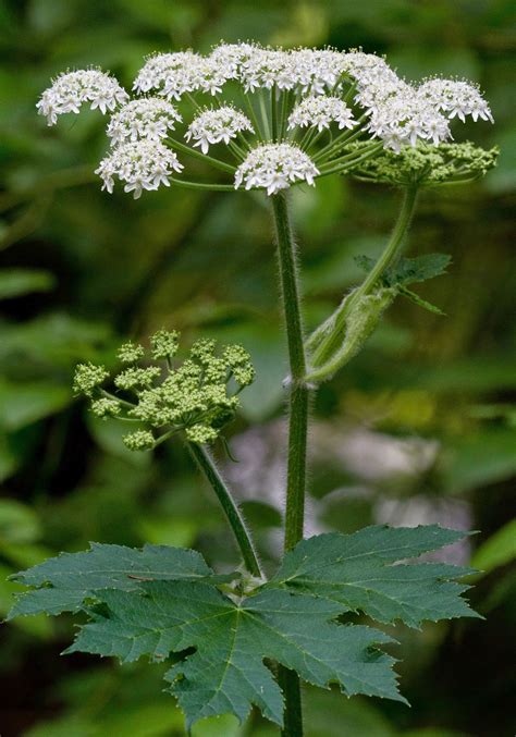
{"type": "MultiPolygon", "coordinates": [[[[439,521],[480,533],[449,560],[482,568],[471,591],[486,622],[397,628],[411,709],[306,691],[308,737],[514,735],[516,124],[511,0],[1,0],[0,28],[0,610],[5,576],[89,540],[195,545],[235,560],[221,514],[183,449],[132,454],[116,426],[71,394],[79,360],[161,327],[239,341],[259,380],[231,428],[237,464],[218,454],[257,529],[269,567],[280,552],[285,349],[274,251],[261,196],[172,189],[134,202],[100,192],[99,114],[46,128],[35,103],[58,72],[99,64],[130,85],[143,57],[221,38],[361,46],[408,78],[478,81],[495,125],[457,140],[499,144],[486,181],[425,194],[410,253],[453,254],[420,294],[447,317],[404,302],[314,407],[309,532],[376,521],[439,521]],[[512,521],[513,520],[513,521],[512,521]]],[[[400,195],[330,177],[293,193],[307,322],[378,254],[400,195]]],[[[175,737],[183,722],[159,667],[60,658],[72,624],[33,617],[0,631],[2,737],[175,737]]],[[[257,715],[238,732],[207,722],[195,737],[275,734],[257,715]]]]}

